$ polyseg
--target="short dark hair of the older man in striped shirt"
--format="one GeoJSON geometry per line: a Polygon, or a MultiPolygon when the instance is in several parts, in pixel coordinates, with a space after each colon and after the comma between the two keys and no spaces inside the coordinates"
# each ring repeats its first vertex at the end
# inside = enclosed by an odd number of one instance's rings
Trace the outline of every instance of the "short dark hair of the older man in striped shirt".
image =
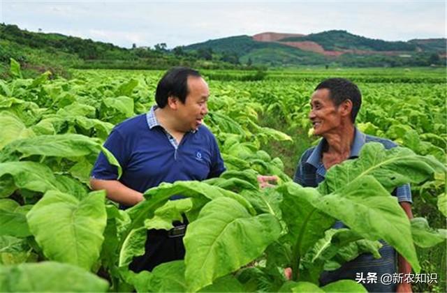
{"type": "Polygon", "coordinates": [[[362,105],[362,93],[360,93],[356,84],[344,78],[329,78],[318,84],[315,90],[318,89],[328,89],[330,92],[329,98],[337,107],[345,100],[351,100],[351,121],[352,123],[356,121],[358,111],[362,105]]]}

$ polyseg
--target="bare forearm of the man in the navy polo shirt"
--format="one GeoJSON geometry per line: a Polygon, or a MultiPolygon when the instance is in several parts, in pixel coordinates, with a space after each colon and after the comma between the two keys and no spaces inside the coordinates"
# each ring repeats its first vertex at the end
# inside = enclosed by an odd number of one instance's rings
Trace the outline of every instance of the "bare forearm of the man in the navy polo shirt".
{"type": "Polygon", "coordinates": [[[142,193],[133,190],[117,180],[90,179],[90,186],[93,190],[104,189],[109,200],[123,204],[125,206],[134,206],[144,200],[142,193]]]}

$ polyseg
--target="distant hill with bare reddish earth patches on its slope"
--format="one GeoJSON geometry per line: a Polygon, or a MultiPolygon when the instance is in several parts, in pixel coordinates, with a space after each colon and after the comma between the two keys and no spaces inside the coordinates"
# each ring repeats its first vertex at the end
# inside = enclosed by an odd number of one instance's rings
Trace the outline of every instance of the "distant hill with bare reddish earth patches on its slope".
{"type": "Polygon", "coordinates": [[[332,30],[276,41],[258,41],[250,36],[233,36],[188,45],[184,47],[184,50],[235,54],[242,63],[274,67],[430,66],[432,64],[444,66],[445,43],[446,39],[390,42],[356,36],[347,31],[332,30]]]}

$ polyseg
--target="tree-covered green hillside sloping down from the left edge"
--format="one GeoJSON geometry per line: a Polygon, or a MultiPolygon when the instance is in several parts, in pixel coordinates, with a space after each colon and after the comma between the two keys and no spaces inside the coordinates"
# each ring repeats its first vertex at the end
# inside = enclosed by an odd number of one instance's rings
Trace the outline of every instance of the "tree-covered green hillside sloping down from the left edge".
{"type": "Polygon", "coordinates": [[[68,68],[165,69],[171,66],[196,68],[236,68],[221,60],[205,60],[184,52],[181,47],[167,50],[166,44],[154,49],[126,49],[59,33],[35,33],[12,24],[0,24],[0,77],[7,77],[10,58],[20,62],[25,75],[50,70],[68,75],[68,68]]]}

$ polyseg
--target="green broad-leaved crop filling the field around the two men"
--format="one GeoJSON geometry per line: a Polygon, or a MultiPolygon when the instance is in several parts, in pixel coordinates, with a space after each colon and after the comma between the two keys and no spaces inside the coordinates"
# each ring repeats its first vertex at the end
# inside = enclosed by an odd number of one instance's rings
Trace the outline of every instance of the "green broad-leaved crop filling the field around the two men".
{"type": "Polygon", "coordinates": [[[268,146],[308,132],[315,82],[222,81],[210,73],[205,123],[228,171],[202,182],[163,183],[123,211],[103,191],[89,190],[89,172],[100,151],[117,165],[102,143],[115,124],[149,109],[162,72],[78,70],[71,80],[50,73],[30,80],[13,62],[11,74],[0,80],[0,291],[362,291],[349,280],[318,287],[318,276],[360,253],[378,255],[379,239],[416,273],[425,269],[420,249],[445,245],[445,223],[410,222],[390,196],[410,182],[414,196],[447,215],[441,82],[368,83],[363,75],[358,126],[406,148],[368,144],[358,160],[331,168],[318,188],[302,188],[285,168],[292,159],[272,156],[268,146]],[[279,183],[260,189],[258,174],[277,175],[279,183]],[[185,198],[168,200],[176,194],[185,198]],[[129,271],[144,252],[146,230],[169,230],[182,214],[191,223],[185,260],[129,271]],[[331,229],[336,219],[349,228],[331,229]]]}

